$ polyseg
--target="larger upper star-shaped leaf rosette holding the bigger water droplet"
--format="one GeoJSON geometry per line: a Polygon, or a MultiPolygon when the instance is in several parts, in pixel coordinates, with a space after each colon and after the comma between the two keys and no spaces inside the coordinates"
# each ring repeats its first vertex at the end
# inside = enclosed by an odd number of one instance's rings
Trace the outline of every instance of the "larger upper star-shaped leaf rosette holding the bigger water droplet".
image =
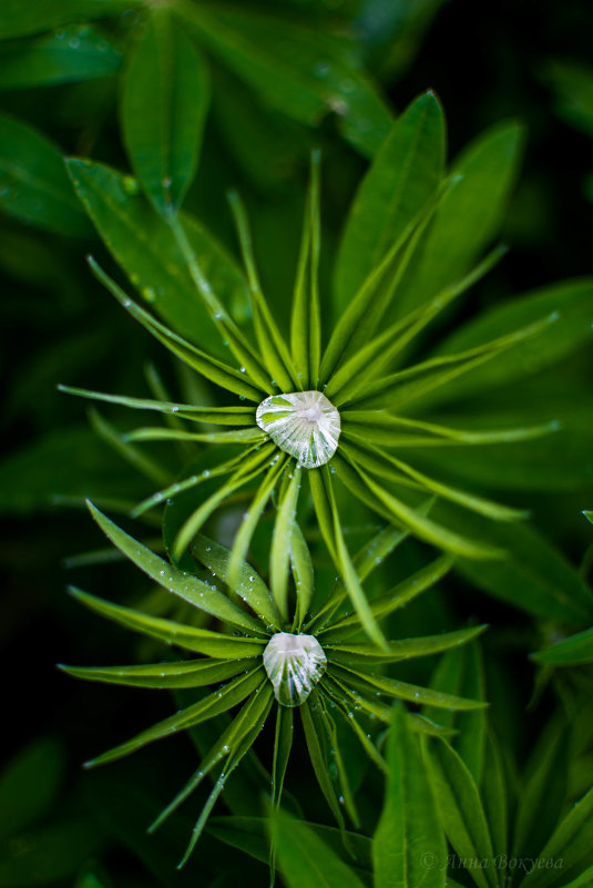
{"type": "Polygon", "coordinates": [[[204,472],[190,474],[142,502],[133,512],[159,507],[174,494],[194,490],[191,513],[178,529],[172,554],[178,560],[195,541],[205,522],[239,491],[253,491],[249,507],[236,532],[229,564],[232,582],[238,580],[239,564],[264,511],[276,509],[272,539],[270,588],[284,620],[287,610],[288,560],[292,548],[303,545],[295,520],[299,490],[307,477],[318,527],[369,637],[385,644],[371,609],[352,568],[337,504],[335,479],[382,520],[406,529],[420,540],[471,559],[490,559],[500,550],[453,531],[432,520],[427,494],[493,520],[511,521],[524,512],[444,483],[398,457],[398,448],[439,448],[450,445],[473,447],[519,441],[549,432],[552,427],[505,428],[493,431],[463,430],[406,415],[408,406],[548,327],[549,315],[514,333],[457,354],[447,354],[398,369],[416,337],[431,321],[478,282],[502,255],[494,249],[470,273],[446,286],[405,317],[386,323],[398,286],[412,261],[422,235],[456,177],[439,185],[366,276],[364,283],[330,331],[324,345],[318,287],[320,253],[319,159],[314,155],[306,202],[296,282],[294,286],[289,343],[285,341],[259,285],[246,214],[236,194],[231,204],[245,264],[255,341],[252,343],[231,317],[206,279],[187,237],[181,216],[168,220],[187,265],[196,293],[228,348],[229,361],[214,357],[187,341],[132,302],[91,259],[91,268],[120,303],[177,358],[222,389],[234,405],[200,407],[164,400],[127,398],[84,389],[64,388],[131,408],[175,414],[178,419],[200,423],[200,430],[142,428],[129,435],[134,441],[198,441],[239,445],[242,451],[204,472]],[[247,406],[242,401],[249,401],[247,406]],[[223,428],[203,429],[203,423],[223,428]],[[201,496],[206,480],[219,486],[201,496]],[[275,496],[274,496],[275,494],[275,496]]]}

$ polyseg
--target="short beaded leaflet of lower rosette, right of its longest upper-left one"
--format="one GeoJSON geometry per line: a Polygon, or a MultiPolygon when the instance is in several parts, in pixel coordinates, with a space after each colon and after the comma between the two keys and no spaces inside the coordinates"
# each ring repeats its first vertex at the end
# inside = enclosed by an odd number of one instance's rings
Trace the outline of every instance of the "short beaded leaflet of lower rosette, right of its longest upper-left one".
{"type": "MultiPolygon", "coordinates": [[[[221,545],[221,543],[198,533],[192,544],[192,554],[225,583],[229,582],[231,550],[225,545],[221,545]]],[[[274,629],[280,629],[280,614],[269,593],[269,589],[257,571],[246,561],[239,565],[232,592],[239,595],[264,623],[274,629]]]]}

